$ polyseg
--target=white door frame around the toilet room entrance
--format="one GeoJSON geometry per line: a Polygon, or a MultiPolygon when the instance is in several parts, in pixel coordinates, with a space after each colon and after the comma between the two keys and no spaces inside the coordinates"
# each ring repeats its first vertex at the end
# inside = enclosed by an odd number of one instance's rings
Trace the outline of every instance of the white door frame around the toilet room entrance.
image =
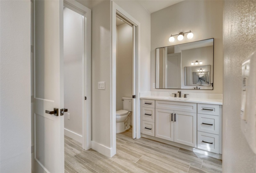
{"type": "Polygon", "coordinates": [[[141,137],[140,133],[140,23],[124,11],[115,2],[111,1],[111,62],[110,62],[110,157],[116,154],[116,14],[127,20],[136,27],[136,138],[141,137]]]}

